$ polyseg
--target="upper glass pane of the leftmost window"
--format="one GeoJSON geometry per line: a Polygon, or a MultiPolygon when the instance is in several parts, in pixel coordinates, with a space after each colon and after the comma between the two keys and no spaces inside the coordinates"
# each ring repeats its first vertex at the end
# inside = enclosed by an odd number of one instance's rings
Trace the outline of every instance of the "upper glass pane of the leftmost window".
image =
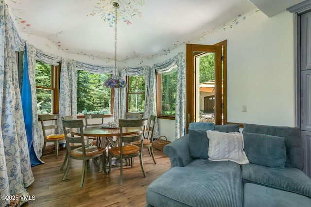
{"type": "Polygon", "coordinates": [[[35,85],[52,87],[52,65],[40,61],[35,62],[35,85]]]}

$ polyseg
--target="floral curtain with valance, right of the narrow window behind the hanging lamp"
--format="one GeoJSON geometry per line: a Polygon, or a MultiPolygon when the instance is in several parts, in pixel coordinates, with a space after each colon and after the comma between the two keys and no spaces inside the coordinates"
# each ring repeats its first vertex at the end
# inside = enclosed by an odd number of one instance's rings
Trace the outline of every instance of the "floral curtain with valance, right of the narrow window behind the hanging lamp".
{"type": "MultiPolygon", "coordinates": [[[[145,78],[145,107],[144,107],[144,118],[149,118],[150,115],[156,116],[156,101],[155,101],[155,89],[156,89],[156,80],[155,80],[155,70],[150,66],[141,66],[141,67],[127,67],[122,69],[124,77],[126,76],[138,76],[143,75],[145,78]]],[[[124,98],[126,98],[124,96],[124,98]]],[[[126,100],[124,100],[126,101],[126,100]]],[[[149,125],[149,121],[148,121],[149,125]]],[[[157,121],[155,123],[155,132],[154,138],[158,138],[159,128],[157,121]]]]}

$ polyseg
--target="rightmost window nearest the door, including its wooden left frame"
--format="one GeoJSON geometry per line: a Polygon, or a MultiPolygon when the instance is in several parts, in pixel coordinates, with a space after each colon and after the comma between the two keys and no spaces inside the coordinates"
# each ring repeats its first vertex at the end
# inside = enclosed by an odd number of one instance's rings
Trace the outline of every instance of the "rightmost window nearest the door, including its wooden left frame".
{"type": "Polygon", "coordinates": [[[159,116],[175,116],[176,91],[177,67],[172,67],[169,72],[157,75],[157,114],[159,116]]]}

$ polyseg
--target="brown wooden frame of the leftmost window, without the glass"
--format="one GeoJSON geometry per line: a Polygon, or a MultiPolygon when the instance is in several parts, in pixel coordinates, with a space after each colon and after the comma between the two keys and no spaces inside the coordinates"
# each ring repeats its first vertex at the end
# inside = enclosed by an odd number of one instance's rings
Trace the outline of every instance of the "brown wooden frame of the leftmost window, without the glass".
{"type": "MultiPolygon", "coordinates": [[[[46,63],[41,60],[42,63],[46,63]]],[[[48,63],[46,63],[48,64],[48,63]]],[[[52,90],[52,114],[59,113],[59,86],[60,86],[60,71],[61,71],[61,63],[59,62],[58,66],[51,65],[51,87],[37,86],[35,84],[35,89],[46,89],[52,90]]],[[[39,114],[39,113],[38,113],[39,114]]]]}

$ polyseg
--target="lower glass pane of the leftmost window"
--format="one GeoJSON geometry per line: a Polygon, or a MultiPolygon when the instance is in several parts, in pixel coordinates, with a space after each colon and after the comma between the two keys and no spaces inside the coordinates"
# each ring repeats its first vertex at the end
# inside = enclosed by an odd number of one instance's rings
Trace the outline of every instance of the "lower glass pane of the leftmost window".
{"type": "Polygon", "coordinates": [[[52,113],[52,90],[36,88],[38,114],[52,113]]]}

